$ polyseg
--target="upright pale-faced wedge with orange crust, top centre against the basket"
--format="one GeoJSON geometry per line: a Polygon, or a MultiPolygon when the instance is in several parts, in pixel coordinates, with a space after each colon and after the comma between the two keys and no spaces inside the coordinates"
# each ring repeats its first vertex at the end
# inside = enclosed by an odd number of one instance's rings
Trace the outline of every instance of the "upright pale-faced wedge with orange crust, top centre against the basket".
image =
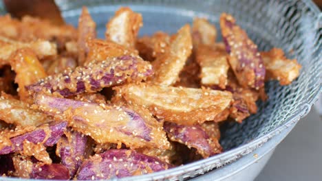
{"type": "Polygon", "coordinates": [[[142,15],[130,8],[120,8],[107,23],[105,37],[129,49],[135,49],[136,36],[142,27],[142,15]]]}

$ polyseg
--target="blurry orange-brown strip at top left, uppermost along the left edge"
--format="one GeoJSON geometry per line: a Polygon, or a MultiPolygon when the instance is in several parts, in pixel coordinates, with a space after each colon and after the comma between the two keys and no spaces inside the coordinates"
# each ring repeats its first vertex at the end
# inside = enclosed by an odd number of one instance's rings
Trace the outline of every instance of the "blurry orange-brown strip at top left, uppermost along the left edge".
{"type": "Polygon", "coordinates": [[[10,15],[0,16],[0,35],[23,42],[38,39],[54,40],[65,44],[76,40],[77,30],[72,25],[53,25],[49,21],[31,16],[23,16],[21,21],[12,19],[10,15]]]}

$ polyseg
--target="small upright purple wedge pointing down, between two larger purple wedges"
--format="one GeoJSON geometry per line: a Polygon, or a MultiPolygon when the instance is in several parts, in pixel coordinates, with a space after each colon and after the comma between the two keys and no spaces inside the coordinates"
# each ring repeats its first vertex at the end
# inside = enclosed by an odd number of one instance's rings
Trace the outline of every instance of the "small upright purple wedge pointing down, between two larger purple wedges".
{"type": "Polygon", "coordinates": [[[57,143],[56,153],[61,157],[61,164],[69,170],[70,178],[74,177],[78,167],[83,162],[86,144],[87,136],[70,130],[57,143]]]}

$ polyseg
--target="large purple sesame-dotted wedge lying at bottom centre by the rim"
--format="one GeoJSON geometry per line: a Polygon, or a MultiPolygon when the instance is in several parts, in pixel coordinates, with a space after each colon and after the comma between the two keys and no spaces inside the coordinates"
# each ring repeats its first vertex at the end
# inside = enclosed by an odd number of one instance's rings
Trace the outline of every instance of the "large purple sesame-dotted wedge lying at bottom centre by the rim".
{"type": "Polygon", "coordinates": [[[138,176],[168,169],[171,165],[158,158],[130,149],[109,149],[85,160],[78,170],[77,180],[102,180],[138,176]]]}

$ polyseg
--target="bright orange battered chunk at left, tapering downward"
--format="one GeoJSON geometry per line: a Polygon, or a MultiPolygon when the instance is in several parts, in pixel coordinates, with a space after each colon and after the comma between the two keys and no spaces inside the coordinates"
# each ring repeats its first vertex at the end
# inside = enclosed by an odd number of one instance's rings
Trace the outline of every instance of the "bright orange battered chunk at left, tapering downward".
{"type": "Polygon", "coordinates": [[[46,77],[45,69],[39,62],[34,51],[30,48],[18,49],[10,58],[12,69],[16,72],[14,82],[19,86],[18,93],[22,101],[30,98],[25,86],[34,84],[46,77]]]}

